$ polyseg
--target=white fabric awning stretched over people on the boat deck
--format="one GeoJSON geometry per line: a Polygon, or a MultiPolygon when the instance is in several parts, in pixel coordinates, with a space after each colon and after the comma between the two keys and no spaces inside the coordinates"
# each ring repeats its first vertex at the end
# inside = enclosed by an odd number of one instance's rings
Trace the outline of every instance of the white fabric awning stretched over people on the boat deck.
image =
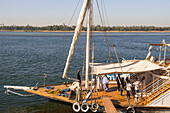
{"type": "MultiPolygon", "coordinates": [[[[147,72],[157,69],[163,69],[162,66],[159,66],[148,60],[140,60],[134,62],[123,62],[120,63],[123,73],[140,73],[147,72]]],[[[91,64],[92,67],[92,64],[91,64]]],[[[113,74],[113,73],[122,73],[119,63],[93,63],[93,74],[94,75],[104,75],[104,74],[113,74]]]]}

